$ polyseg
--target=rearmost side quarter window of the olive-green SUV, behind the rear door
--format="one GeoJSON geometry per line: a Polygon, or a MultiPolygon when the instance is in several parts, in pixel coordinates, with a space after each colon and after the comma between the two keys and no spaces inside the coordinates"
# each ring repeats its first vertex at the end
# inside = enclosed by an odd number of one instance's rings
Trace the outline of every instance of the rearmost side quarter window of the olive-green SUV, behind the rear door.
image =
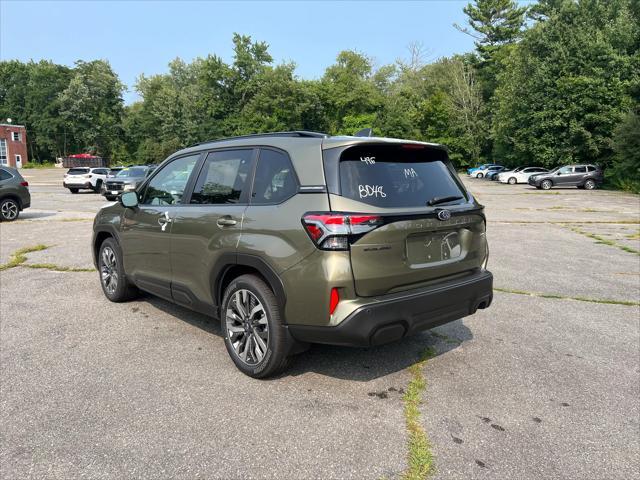
{"type": "Polygon", "coordinates": [[[298,181],[289,157],[275,150],[260,150],[251,203],[280,203],[292,197],[297,190],[298,181]]]}

